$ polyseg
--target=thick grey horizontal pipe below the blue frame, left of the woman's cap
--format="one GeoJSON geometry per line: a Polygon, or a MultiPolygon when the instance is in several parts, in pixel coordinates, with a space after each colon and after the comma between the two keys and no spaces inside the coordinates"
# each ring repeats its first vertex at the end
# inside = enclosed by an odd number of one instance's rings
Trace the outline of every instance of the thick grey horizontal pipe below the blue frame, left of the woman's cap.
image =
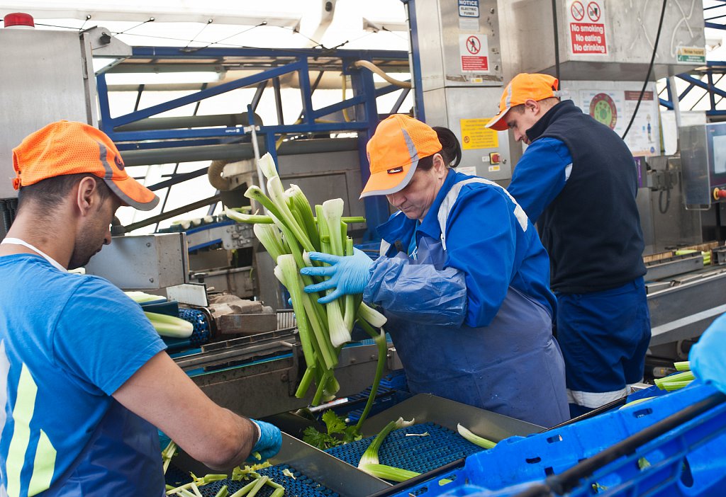
{"type": "MultiPolygon", "coordinates": [[[[264,138],[258,136],[258,144],[264,147],[264,138]]],[[[278,155],[317,154],[358,150],[357,138],[315,138],[311,140],[290,140],[282,142],[278,155]]],[[[252,143],[227,143],[168,149],[127,150],[123,152],[126,166],[148,164],[169,164],[173,162],[197,162],[227,159],[240,161],[255,156],[252,143]]]]}

